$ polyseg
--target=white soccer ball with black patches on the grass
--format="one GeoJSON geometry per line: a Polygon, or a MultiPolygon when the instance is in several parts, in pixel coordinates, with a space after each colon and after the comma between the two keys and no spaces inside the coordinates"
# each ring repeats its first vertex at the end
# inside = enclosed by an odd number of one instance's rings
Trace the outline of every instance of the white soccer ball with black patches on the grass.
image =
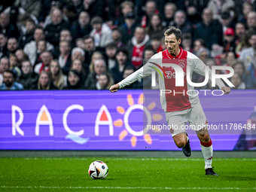
{"type": "Polygon", "coordinates": [[[103,179],[108,175],[108,166],[101,160],[90,163],[88,173],[93,179],[103,179]]]}

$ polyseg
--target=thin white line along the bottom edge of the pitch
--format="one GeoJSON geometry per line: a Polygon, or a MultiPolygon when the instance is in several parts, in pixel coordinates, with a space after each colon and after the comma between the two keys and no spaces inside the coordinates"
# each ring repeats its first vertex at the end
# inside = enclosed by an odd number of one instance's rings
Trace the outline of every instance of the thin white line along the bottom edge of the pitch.
{"type": "Polygon", "coordinates": [[[240,187],[48,187],[48,186],[0,186],[1,188],[44,188],[44,189],[162,189],[162,190],[256,190],[240,187]]]}

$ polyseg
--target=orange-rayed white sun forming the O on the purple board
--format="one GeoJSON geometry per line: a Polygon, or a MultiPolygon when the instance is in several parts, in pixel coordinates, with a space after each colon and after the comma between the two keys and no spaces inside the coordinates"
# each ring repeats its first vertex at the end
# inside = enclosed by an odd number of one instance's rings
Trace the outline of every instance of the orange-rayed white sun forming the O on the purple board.
{"type": "MultiPolygon", "coordinates": [[[[130,113],[133,110],[140,109],[140,110],[144,111],[144,113],[147,117],[147,125],[151,125],[152,120],[154,120],[154,121],[162,120],[163,116],[161,114],[151,115],[150,111],[155,108],[156,102],[151,102],[147,107],[145,107],[143,105],[143,103],[145,102],[143,93],[141,93],[139,95],[138,104],[134,104],[134,99],[131,94],[128,94],[126,96],[126,99],[127,99],[128,105],[130,106],[129,108],[127,108],[126,110],[122,106],[117,106],[117,108],[116,108],[117,112],[119,114],[123,114],[124,116],[123,116],[123,120],[122,119],[115,120],[114,126],[120,127],[120,126],[123,126],[123,124],[124,124],[124,126],[126,128],[126,130],[123,130],[119,134],[119,140],[122,141],[128,135],[128,133],[130,133],[132,135],[130,142],[133,147],[136,146],[138,136],[143,136],[145,142],[147,142],[149,145],[151,145],[152,144],[151,135],[147,133],[148,130],[145,129],[146,127],[144,127],[144,130],[135,131],[130,127],[128,119],[129,119],[130,113]]],[[[160,131],[160,130],[154,130],[154,131],[160,131]]]]}

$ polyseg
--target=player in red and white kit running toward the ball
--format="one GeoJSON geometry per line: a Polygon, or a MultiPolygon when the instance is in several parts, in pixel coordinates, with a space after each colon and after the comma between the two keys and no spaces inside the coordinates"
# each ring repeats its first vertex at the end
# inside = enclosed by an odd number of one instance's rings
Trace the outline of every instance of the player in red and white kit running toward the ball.
{"type": "MultiPolygon", "coordinates": [[[[161,105],[163,110],[166,112],[166,121],[169,125],[176,126],[175,129],[172,128],[170,130],[172,133],[172,138],[177,147],[182,148],[182,151],[186,157],[190,157],[191,149],[184,126],[187,121],[190,125],[194,125],[197,136],[200,139],[201,149],[205,160],[206,175],[218,175],[212,170],[212,140],[209,136],[208,130],[206,129],[208,121],[203,112],[203,108],[200,104],[198,96],[193,96],[197,95],[197,93],[195,92],[194,87],[187,84],[187,75],[185,75],[187,72],[187,67],[190,68],[190,79],[193,72],[197,72],[200,75],[205,75],[206,65],[193,53],[182,50],[182,48],[179,47],[181,44],[180,29],[176,29],[172,26],[166,30],[164,35],[166,50],[152,56],[145,66],[123,79],[123,81],[120,81],[118,84],[112,85],[109,90],[112,93],[117,92],[117,90],[120,88],[123,88],[128,84],[132,84],[140,78],[150,75],[152,71],[156,69],[156,67],[161,66],[161,63],[172,63],[180,66],[184,72],[184,87],[175,87],[175,78],[160,78],[160,75],[158,75],[160,90],[173,90],[176,93],[160,94],[161,105]],[[190,90],[189,95],[181,94],[187,93],[187,90],[190,90]]],[[[175,70],[169,66],[163,66],[161,69],[163,69],[164,72],[172,73],[172,75],[173,72],[175,72],[175,70]]],[[[160,69],[157,71],[161,72],[162,75],[166,75],[166,73],[163,73],[163,71],[160,71],[160,69]]],[[[209,79],[212,80],[210,69],[209,79]]],[[[216,84],[224,94],[230,93],[230,88],[225,87],[224,83],[220,79],[216,80],[216,84]]]]}

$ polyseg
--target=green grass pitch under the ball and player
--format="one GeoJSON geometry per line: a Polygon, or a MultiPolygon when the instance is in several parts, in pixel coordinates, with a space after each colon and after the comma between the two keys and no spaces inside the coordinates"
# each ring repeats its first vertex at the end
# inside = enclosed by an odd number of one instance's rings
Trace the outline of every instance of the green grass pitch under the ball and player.
{"type": "Polygon", "coordinates": [[[205,175],[203,158],[0,158],[0,191],[256,191],[256,159],[214,158],[219,176],[205,175]],[[107,163],[104,180],[87,169],[107,163]]]}

